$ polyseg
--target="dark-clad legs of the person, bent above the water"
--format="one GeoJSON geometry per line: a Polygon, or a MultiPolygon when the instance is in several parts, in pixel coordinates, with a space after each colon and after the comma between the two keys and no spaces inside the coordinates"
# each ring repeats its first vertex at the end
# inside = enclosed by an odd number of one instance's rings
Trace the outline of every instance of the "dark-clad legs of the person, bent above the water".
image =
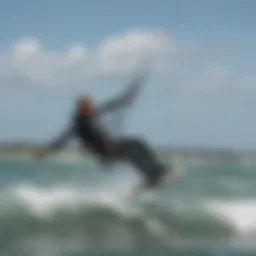
{"type": "Polygon", "coordinates": [[[125,138],[116,143],[117,155],[126,158],[146,177],[146,187],[161,183],[167,168],[161,163],[150,147],[140,139],[125,138]]]}

